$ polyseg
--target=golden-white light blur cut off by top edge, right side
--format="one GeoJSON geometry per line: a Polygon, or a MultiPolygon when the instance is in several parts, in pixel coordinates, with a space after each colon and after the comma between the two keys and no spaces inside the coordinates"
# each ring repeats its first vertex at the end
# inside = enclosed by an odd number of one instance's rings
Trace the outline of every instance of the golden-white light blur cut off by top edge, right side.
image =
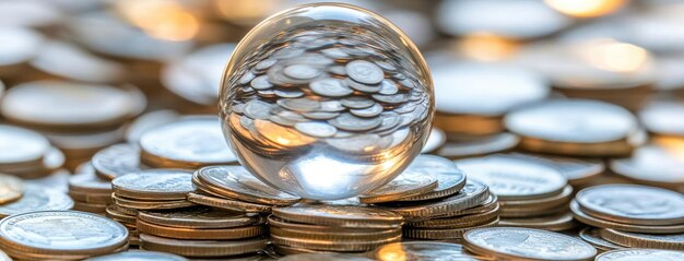
{"type": "Polygon", "coordinates": [[[625,0],[544,0],[544,2],[567,15],[576,17],[597,17],[617,11],[625,0]]]}

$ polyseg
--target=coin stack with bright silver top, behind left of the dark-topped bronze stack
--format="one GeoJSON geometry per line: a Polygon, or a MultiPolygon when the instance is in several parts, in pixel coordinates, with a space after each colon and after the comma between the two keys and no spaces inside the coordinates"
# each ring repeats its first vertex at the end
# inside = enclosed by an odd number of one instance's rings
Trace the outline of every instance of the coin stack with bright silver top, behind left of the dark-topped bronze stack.
{"type": "Polygon", "coordinates": [[[193,205],[186,194],[193,190],[192,173],[180,169],[148,169],[111,181],[114,204],[107,216],[130,230],[130,244],[139,245],[135,217],[141,210],[169,210],[193,205]]]}

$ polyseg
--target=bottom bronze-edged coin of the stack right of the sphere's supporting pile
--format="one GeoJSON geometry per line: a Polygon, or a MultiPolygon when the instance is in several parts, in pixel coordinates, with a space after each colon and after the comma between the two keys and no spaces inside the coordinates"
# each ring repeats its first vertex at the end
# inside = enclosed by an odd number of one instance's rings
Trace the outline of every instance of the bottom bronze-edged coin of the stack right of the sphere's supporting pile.
{"type": "Polygon", "coordinates": [[[577,223],[573,220],[573,213],[569,212],[536,217],[502,218],[498,225],[538,228],[551,232],[563,232],[577,227],[577,223]]]}

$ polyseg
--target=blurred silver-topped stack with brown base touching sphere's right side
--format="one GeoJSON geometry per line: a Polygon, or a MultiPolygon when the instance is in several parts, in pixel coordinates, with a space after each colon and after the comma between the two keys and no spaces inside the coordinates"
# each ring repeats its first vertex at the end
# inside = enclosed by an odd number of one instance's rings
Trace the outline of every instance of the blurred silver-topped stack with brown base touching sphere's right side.
{"type": "Polygon", "coordinates": [[[499,133],[505,130],[502,119],[506,112],[541,100],[550,93],[541,75],[492,63],[437,63],[432,75],[437,108],[435,126],[450,134],[499,133]]]}

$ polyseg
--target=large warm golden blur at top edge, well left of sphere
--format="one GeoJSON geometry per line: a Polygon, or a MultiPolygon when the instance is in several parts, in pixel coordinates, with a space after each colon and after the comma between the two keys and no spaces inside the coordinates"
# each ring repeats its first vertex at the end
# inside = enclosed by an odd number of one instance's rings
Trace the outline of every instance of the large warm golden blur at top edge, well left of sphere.
{"type": "Polygon", "coordinates": [[[166,40],[187,40],[194,37],[200,23],[178,2],[168,0],[122,0],[117,11],[148,35],[166,40]]]}

